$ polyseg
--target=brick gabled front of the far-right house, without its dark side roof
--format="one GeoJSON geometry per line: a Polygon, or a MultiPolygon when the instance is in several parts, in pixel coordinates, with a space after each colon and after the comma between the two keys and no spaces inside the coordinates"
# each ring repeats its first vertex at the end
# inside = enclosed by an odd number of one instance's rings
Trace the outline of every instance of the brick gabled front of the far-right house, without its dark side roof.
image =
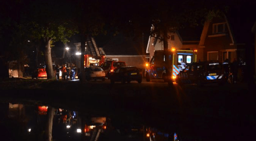
{"type": "Polygon", "coordinates": [[[220,62],[229,59],[232,62],[238,56],[244,58],[244,43],[235,39],[226,15],[206,21],[198,46],[203,57],[199,59],[219,60],[220,62]]]}

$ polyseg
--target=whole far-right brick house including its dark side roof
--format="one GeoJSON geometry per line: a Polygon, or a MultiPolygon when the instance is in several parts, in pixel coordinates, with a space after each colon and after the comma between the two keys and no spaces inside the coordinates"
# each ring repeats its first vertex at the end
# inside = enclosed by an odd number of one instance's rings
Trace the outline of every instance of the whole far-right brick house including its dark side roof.
{"type": "Polygon", "coordinates": [[[206,21],[198,46],[203,51],[201,60],[220,62],[224,62],[225,59],[229,59],[230,62],[234,59],[250,60],[246,49],[251,48],[253,44],[252,36],[248,32],[253,26],[251,20],[234,11],[206,21]]]}

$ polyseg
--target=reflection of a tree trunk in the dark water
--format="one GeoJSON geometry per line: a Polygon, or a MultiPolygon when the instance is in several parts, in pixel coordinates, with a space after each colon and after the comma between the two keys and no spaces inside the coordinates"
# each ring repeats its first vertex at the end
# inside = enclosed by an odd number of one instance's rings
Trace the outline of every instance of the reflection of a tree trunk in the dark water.
{"type": "Polygon", "coordinates": [[[46,141],[52,141],[53,133],[53,115],[55,109],[53,107],[48,107],[47,109],[47,125],[45,130],[46,141]]]}

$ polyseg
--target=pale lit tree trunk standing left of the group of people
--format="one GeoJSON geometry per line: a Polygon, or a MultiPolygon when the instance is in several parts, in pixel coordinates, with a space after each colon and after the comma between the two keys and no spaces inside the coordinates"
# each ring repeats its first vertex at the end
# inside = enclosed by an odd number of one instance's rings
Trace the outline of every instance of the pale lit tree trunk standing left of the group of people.
{"type": "Polygon", "coordinates": [[[54,78],[54,74],[53,74],[53,63],[52,63],[52,56],[51,56],[50,39],[45,39],[44,43],[45,43],[44,58],[45,58],[47,79],[52,79],[54,78]]]}

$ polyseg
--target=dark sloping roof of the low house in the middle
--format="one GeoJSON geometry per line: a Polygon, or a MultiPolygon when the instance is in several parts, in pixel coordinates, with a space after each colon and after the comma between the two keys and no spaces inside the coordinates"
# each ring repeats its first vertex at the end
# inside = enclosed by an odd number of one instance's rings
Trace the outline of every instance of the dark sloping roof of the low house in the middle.
{"type": "Polygon", "coordinates": [[[146,52],[147,42],[148,36],[146,35],[144,37],[125,37],[120,33],[103,45],[103,50],[106,55],[142,55],[143,51],[146,52]]]}

